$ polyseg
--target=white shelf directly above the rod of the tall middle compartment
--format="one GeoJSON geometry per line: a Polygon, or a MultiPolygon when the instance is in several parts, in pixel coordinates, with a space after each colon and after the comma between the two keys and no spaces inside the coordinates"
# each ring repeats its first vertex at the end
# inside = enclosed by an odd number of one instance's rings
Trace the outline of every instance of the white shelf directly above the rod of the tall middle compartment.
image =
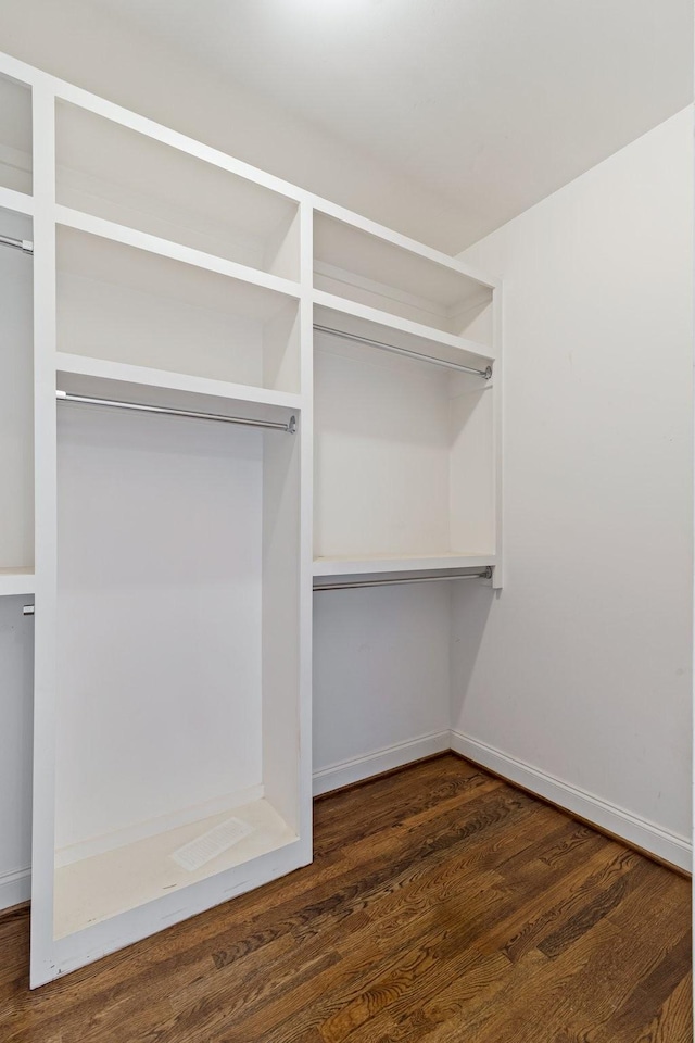
{"type": "Polygon", "coordinates": [[[67,352],[56,352],[55,374],[56,387],[71,394],[226,415],[242,410],[255,419],[283,418],[278,411],[296,412],[302,402],[301,395],[289,391],[271,391],[67,352]]]}

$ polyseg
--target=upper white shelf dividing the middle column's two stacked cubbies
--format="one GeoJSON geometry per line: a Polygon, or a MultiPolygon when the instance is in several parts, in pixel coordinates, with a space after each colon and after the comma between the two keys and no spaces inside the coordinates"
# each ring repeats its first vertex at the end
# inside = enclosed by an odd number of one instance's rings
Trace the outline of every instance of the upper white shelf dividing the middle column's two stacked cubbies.
{"type": "Polygon", "coordinates": [[[266,290],[283,293],[286,297],[298,298],[300,296],[299,284],[290,279],[283,279],[280,278],[280,276],[270,275],[260,268],[252,268],[245,264],[239,264],[237,261],[228,261],[225,257],[219,257],[212,253],[204,253],[202,250],[195,250],[192,247],[184,246],[170,239],[163,239],[144,231],[138,231],[127,225],[119,225],[113,221],[106,221],[103,217],[96,217],[92,214],[86,214],[78,210],[71,210],[68,206],[56,205],[55,219],[59,225],[73,228],[76,231],[99,236],[101,239],[109,239],[112,242],[119,242],[126,247],[144,250],[148,253],[161,257],[168,257],[172,261],[180,261],[184,264],[204,268],[207,272],[215,272],[218,275],[225,275],[238,281],[248,282],[251,286],[258,286],[266,290]]]}

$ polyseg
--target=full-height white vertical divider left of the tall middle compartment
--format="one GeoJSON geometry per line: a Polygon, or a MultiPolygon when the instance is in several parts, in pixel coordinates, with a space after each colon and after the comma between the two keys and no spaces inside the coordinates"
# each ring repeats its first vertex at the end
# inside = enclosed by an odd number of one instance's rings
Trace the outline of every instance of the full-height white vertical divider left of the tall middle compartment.
{"type": "Polygon", "coordinates": [[[55,97],[34,86],[34,373],[36,659],[31,852],[31,987],[60,972],[53,943],[55,778],[55,97]]]}

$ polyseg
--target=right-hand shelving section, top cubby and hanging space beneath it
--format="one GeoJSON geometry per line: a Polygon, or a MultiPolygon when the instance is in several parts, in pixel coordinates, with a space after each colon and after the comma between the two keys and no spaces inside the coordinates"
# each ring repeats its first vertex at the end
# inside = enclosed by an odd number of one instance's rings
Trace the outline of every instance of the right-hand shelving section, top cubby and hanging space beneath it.
{"type": "Polygon", "coordinates": [[[500,586],[497,285],[323,213],[314,251],[314,575],[500,586]]]}

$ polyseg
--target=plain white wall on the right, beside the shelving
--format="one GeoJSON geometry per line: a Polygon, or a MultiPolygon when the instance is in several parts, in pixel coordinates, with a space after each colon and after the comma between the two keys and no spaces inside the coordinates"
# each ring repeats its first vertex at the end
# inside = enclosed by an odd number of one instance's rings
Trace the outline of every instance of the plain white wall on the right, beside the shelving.
{"type": "Polygon", "coordinates": [[[505,286],[507,569],[456,595],[453,695],[464,752],[683,858],[692,137],[686,110],[464,254],[505,286]]]}

